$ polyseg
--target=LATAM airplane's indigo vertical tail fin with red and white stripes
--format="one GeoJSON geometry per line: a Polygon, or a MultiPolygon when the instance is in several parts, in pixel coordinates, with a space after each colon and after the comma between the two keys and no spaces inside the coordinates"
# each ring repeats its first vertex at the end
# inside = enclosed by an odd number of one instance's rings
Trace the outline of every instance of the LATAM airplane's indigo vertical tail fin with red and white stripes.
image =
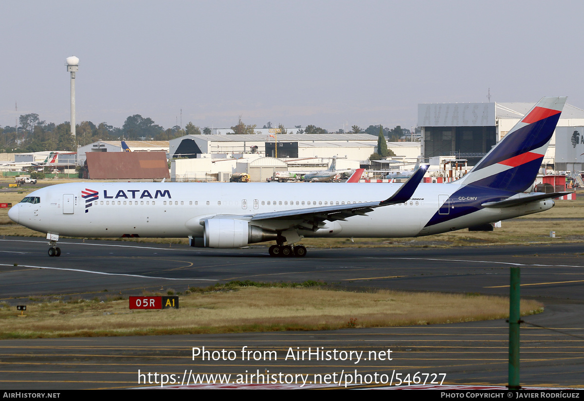
{"type": "Polygon", "coordinates": [[[523,192],[531,187],[566,97],[543,97],[457,184],[523,192]]]}

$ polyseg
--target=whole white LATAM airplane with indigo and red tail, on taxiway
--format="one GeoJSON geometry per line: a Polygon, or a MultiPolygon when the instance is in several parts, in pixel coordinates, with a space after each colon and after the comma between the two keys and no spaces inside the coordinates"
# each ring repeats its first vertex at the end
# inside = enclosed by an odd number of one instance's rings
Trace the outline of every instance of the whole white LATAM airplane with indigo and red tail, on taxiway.
{"type": "Polygon", "coordinates": [[[272,256],[305,256],[304,237],[418,237],[543,212],[533,184],[566,101],[544,97],[463,178],[420,184],[82,182],[38,189],[13,206],[16,223],[47,234],[48,255],[69,237],[189,237],[193,247],[276,241],[272,256]]]}

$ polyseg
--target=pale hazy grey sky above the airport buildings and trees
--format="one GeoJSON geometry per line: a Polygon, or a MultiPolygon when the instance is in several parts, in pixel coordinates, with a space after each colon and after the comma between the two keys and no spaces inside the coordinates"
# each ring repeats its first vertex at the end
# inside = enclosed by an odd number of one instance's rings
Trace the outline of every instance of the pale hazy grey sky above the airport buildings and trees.
{"type": "Polygon", "coordinates": [[[584,108],[579,1],[2,0],[0,125],[141,114],[228,128],[416,125],[418,103],[584,108]],[[15,111],[18,101],[18,114],[15,111]],[[178,119],[177,119],[178,118],[178,119]]]}

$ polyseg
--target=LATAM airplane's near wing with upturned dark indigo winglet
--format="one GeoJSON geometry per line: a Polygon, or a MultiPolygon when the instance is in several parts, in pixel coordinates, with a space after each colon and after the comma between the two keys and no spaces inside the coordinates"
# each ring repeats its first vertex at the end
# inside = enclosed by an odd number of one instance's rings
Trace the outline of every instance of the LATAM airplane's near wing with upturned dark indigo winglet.
{"type": "Polygon", "coordinates": [[[307,224],[312,224],[312,229],[316,230],[319,226],[324,226],[322,221],[325,220],[346,220],[347,217],[351,216],[366,216],[367,212],[372,212],[376,207],[406,202],[412,197],[416,188],[418,188],[418,185],[420,184],[420,181],[422,181],[424,174],[426,174],[428,167],[429,165],[420,166],[416,173],[408,178],[408,181],[404,182],[395,194],[385,200],[350,203],[347,205],[330,205],[308,207],[305,209],[281,210],[278,212],[248,214],[244,217],[251,218],[251,221],[257,221],[258,223],[266,220],[303,220],[305,222],[305,224],[302,224],[303,227],[306,227],[307,224]]]}

